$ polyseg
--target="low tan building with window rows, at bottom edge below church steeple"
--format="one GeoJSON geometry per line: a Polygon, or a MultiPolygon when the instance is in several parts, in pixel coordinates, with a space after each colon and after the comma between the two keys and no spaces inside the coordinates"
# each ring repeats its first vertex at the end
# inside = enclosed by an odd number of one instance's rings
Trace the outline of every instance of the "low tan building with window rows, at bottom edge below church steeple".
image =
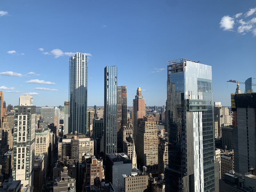
{"type": "Polygon", "coordinates": [[[142,172],[123,174],[124,192],[148,191],[148,175],[142,172]]]}

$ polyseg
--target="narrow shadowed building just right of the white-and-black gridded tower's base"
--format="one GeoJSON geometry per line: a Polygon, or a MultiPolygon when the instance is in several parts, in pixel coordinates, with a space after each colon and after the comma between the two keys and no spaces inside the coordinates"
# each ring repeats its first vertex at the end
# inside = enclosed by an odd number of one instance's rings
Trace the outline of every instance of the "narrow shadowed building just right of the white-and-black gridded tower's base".
{"type": "Polygon", "coordinates": [[[37,154],[34,162],[34,189],[33,192],[41,192],[44,186],[44,155],[37,154]]]}

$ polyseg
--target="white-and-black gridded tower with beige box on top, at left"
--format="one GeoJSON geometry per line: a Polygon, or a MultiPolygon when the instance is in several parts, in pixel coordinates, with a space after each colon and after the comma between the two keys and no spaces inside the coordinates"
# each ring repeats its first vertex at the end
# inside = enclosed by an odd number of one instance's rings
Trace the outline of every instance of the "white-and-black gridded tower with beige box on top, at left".
{"type": "MultiPolygon", "coordinates": [[[[24,96],[24,95],[21,95],[24,96]]],[[[21,97],[30,100],[30,95],[21,97]]],[[[13,129],[13,180],[21,180],[23,186],[34,185],[34,158],[35,158],[35,123],[36,106],[21,105],[14,107],[13,129]]]]}

